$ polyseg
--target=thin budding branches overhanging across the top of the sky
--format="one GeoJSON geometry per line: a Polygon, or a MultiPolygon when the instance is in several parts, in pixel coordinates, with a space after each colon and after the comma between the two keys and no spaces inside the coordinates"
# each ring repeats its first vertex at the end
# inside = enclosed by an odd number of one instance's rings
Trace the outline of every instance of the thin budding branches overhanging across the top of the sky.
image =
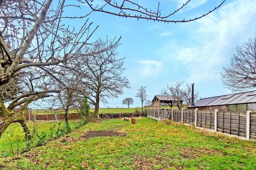
{"type": "Polygon", "coordinates": [[[156,6],[156,10],[148,9],[145,6],[140,5],[132,0],[126,1],[114,1],[114,0],[102,0],[102,5],[98,4],[96,1],[92,0],[79,0],[81,3],[85,3],[90,6],[93,11],[108,13],[111,15],[121,16],[123,18],[135,18],[137,20],[153,20],[158,22],[166,22],[166,23],[178,23],[178,22],[190,22],[203,18],[204,16],[212,13],[217,10],[226,0],[222,1],[219,5],[214,6],[210,11],[205,12],[195,18],[191,19],[174,19],[174,15],[180,12],[183,8],[185,8],[191,0],[186,1],[180,7],[175,9],[173,12],[169,12],[164,14],[162,12],[160,3],[156,6]]]}

